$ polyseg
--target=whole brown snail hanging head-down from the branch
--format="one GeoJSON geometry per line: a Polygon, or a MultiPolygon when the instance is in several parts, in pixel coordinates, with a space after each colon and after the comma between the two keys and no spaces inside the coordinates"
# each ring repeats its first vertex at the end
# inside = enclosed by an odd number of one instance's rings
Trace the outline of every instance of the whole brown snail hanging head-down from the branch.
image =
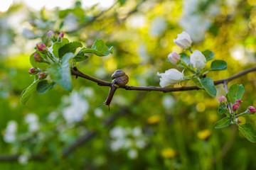
{"type": "MultiPolygon", "coordinates": [[[[116,91],[117,88],[119,88],[119,87],[124,87],[125,84],[127,84],[129,81],[129,77],[121,69],[117,69],[112,74],[111,77],[112,77],[112,84],[110,85],[110,92],[107,96],[107,100],[100,105],[100,106],[107,105],[109,107],[109,111],[110,111],[110,103],[114,96],[114,91],[116,91]]],[[[98,107],[100,107],[100,106],[98,106],[98,107]]]]}

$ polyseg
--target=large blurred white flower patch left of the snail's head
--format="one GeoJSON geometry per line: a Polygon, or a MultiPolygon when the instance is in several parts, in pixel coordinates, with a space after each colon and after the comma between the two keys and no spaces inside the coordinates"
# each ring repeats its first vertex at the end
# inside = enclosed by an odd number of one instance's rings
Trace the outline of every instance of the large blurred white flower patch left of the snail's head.
{"type": "Polygon", "coordinates": [[[79,122],[87,113],[89,104],[77,91],[70,94],[70,106],[63,109],[63,116],[68,123],[79,122]]]}

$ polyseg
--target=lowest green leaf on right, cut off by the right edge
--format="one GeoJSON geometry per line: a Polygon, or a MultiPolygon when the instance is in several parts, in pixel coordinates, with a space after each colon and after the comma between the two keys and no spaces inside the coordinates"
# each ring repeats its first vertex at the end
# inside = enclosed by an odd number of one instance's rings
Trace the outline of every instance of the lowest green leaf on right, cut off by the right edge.
{"type": "Polygon", "coordinates": [[[256,130],[251,123],[245,123],[243,125],[238,125],[240,132],[244,135],[250,142],[256,142],[256,130]]]}

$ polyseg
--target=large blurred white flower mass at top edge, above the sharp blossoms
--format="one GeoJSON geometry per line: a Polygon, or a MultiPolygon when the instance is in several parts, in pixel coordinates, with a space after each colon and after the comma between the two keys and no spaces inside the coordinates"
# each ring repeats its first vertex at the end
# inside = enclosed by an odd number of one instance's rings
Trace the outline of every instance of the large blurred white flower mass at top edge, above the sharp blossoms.
{"type": "Polygon", "coordinates": [[[201,42],[204,39],[206,31],[213,23],[213,18],[220,11],[220,2],[219,0],[210,3],[208,0],[183,1],[183,16],[179,25],[191,35],[194,42],[201,42]]]}

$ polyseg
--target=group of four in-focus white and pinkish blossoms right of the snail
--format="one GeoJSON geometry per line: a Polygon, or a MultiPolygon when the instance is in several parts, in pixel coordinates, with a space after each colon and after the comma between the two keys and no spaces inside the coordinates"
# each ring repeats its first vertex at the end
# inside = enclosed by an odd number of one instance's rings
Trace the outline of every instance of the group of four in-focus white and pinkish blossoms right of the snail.
{"type": "MultiPolygon", "coordinates": [[[[192,40],[190,35],[185,31],[183,31],[181,34],[178,34],[178,38],[174,39],[174,43],[179,47],[182,47],[184,50],[191,51],[192,40]]],[[[168,55],[168,59],[173,64],[179,64],[179,62],[181,62],[181,57],[176,52],[171,52],[168,55]]],[[[202,52],[198,50],[194,50],[194,52],[191,54],[190,62],[193,64],[193,67],[196,67],[199,70],[206,67],[206,57],[202,54],[202,52]]],[[[164,73],[157,72],[157,75],[161,77],[161,87],[177,84],[183,80],[183,73],[179,72],[177,69],[168,69],[164,73]]]]}

